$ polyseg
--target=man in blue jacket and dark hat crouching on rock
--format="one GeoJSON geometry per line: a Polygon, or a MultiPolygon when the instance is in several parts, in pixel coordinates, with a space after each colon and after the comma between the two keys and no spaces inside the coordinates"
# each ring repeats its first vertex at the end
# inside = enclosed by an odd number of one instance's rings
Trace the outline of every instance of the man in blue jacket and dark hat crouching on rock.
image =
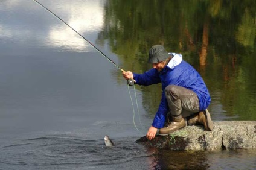
{"type": "Polygon", "coordinates": [[[123,72],[124,78],[132,78],[139,85],[162,83],[162,99],[147,131],[147,139],[153,139],[158,129],[158,134],[165,136],[187,124],[202,124],[205,130],[213,130],[207,110],[211,102],[210,94],[196,69],[183,61],[181,54],[167,53],[161,45],[150,48],[149,63],[152,63],[153,68],[143,74],[123,72]],[[166,120],[167,125],[164,127],[166,120]]]}

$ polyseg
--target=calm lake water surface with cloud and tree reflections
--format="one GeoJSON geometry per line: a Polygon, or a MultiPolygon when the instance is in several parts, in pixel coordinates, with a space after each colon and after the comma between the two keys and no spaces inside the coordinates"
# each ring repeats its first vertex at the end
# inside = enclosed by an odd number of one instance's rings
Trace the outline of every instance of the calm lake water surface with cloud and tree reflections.
{"type": "MultiPolygon", "coordinates": [[[[254,1],[39,2],[125,70],[149,69],[157,43],[181,52],[210,90],[214,121],[256,120],[254,1]]],[[[0,49],[0,169],[256,168],[256,151],[136,144],[160,86],[128,90],[116,66],[32,0],[0,2],[0,49]]]]}

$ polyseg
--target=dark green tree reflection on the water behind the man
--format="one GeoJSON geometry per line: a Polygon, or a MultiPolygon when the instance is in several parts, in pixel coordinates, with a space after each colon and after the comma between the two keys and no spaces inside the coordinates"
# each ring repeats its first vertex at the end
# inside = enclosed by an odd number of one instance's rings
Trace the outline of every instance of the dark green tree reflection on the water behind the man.
{"type": "MultiPolygon", "coordinates": [[[[169,52],[180,52],[200,72],[210,93],[220,93],[222,110],[210,106],[213,119],[256,120],[254,0],[109,0],[104,11],[97,42],[109,43],[121,68],[147,71],[149,48],[162,44],[169,52]]],[[[142,90],[144,108],[154,115],[161,84],[136,88],[142,90]]]]}

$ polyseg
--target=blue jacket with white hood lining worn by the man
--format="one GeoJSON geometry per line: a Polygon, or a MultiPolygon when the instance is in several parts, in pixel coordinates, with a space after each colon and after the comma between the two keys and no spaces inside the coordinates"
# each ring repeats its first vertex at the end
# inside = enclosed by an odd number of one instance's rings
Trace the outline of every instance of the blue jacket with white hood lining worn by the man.
{"type": "Polygon", "coordinates": [[[162,99],[153,120],[152,126],[164,127],[165,117],[169,111],[167,99],[165,98],[165,87],[168,85],[182,86],[195,92],[199,99],[200,111],[205,110],[211,102],[208,89],[200,74],[190,64],[182,61],[181,54],[170,53],[174,57],[162,71],[150,69],[143,74],[133,73],[136,84],[149,86],[162,83],[162,99]]]}

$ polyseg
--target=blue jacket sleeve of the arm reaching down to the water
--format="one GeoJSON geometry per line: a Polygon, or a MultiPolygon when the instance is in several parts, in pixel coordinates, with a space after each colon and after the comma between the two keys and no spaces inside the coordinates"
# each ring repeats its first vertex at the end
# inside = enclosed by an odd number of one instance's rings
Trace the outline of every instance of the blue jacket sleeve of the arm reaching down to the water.
{"type": "Polygon", "coordinates": [[[165,93],[162,92],[162,99],[158,108],[158,112],[156,112],[155,118],[153,120],[152,126],[155,128],[164,127],[164,122],[166,115],[168,113],[169,107],[167,104],[167,100],[165,98],[165,93]]]}

